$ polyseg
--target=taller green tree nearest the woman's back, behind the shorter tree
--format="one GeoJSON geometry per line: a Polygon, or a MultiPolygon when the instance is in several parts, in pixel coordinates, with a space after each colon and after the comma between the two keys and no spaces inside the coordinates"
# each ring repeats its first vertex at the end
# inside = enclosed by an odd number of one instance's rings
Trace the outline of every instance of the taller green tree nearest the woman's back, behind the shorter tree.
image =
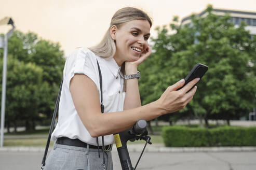
{"type": "Polygon", "coordinates": [[[35,63],[43,69],[43,81],[46,82],[44,86],[51,87],[50,91],[47,91],[47,100],[42,101],[40,107],[42,108],[40,110],[41,112],[50,116],[55,107],[59,84],[62,78],[65,63],[64,54],[60,50],[59,43],[52,43],[44,39],[39,40],[31,48],[31,51],[29,55],[30,62],[35,63]]]}

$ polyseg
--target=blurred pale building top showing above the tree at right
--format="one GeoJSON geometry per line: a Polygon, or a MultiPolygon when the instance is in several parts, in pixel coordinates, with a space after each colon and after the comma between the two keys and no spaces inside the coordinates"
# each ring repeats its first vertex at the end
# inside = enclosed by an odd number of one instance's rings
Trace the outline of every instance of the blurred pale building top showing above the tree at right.
{"type": "MultiPolygon", "coordinates": [[[[244,21],[247,26],[246,30],[250,31],[251,35],[256,35],[256,12],[249,11],[238,11],[238,10],[226,10],[226,9],[212,9],[212,13],[218,16],[224,16],[225,13],[229,13],[231,16],[231,21],[235,25],[239,25],[242,21],[244,21]]],[[[196,16],[206,16],[206,10],[196,14],[196,16]]],[[[181,25],[191,23],[191,16],[185,17],[181,21],[181,25]]]]}

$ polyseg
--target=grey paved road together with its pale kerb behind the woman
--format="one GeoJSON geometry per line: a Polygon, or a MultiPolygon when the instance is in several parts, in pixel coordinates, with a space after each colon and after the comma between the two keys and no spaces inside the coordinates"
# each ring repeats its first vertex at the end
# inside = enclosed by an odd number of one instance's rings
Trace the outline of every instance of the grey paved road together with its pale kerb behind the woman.
{"type": "MultiPolygon", "coordinates": [[[[142,148],[141,144],[128,145],[133,166],[142,148]]],[[[39,169],[43,154],[44,147],[0,148],[0,169],[39,169]]],[[[114,169],[121,169],[115,146],[112,157],[114,169]]],[[[255,158],[256,147],[166,148],[163,144],[153,144],[147,146],[136,169],[255,170],[255,158]]]]}

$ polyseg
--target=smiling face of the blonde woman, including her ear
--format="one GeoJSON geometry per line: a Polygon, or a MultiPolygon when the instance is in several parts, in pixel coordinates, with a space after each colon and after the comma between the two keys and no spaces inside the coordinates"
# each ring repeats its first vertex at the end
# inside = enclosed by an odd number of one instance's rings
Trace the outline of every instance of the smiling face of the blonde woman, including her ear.
{"type": "Polygon", "coordinates": [[[133,20],[122,24],[118,29],[111,28],[112,37],[116,40],[114,59],[118,65],[125,61],[136,61],[149,46],[150,23],[146,20],[133,20]]]}

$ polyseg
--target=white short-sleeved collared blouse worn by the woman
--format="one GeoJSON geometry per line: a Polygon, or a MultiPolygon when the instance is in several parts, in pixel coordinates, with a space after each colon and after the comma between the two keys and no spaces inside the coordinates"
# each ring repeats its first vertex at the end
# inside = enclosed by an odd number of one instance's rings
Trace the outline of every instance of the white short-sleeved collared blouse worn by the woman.
{"type": "MultiPolygon", "coordinates": [[[[51,140],[58,137],[78,138],[90,145],[97,145],[96,137],[91,137],[80,120],[70,93],[70,80],[75,74],[85,74],[95,82],[100,96],[100,79],[97,60],[102,74],[104,112],[123,111],[125,92],[124,75],[115,60],[104,59],[87,48],[73,51],[66,60],[63,70],[63,85],[60,96],[58,123],[51,135],[51,140]]],[[[88,98],[88,100],[90,100],[88,98]]],[[[100,98],[99,98],[100,102],[100,98]]],[[[114,143],[113,135],[104,136],[104,145],[114,143]]],[[[99,145],[102,146],[101,137],[99,145]]]]}

